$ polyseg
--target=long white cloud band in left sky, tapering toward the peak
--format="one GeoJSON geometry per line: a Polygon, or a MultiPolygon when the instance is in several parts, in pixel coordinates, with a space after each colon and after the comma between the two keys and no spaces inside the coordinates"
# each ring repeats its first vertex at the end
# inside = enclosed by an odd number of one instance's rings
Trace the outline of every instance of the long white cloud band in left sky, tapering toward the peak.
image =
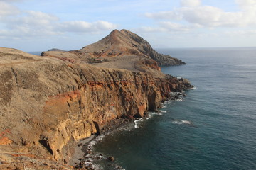
{"type": "Polygon", "coordinates": [[[16,6],[0,1],[0,37],[35,38],[65,33],[96,33],[112,30],[117,25],[107,21],[60,21],[49,13],[21,11],[16,6]]]}

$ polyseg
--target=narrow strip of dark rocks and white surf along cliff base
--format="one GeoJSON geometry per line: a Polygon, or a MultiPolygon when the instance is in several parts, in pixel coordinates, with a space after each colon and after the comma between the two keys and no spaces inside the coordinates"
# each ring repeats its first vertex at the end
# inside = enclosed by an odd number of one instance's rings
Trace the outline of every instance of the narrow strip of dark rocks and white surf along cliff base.
{"type": "MultiPolygon", "coordinates": [[[[193,89],[194,86],[191,88],[193,89]]],[[[171,92],[169,94],[170,98],[168,100],[162,101],[161,108],[165,108],[166,104],[171,101],[183,101],[183,97],[186,97],[185,91],[181,92],[171,92]]],[[[161,109],[159,108],[159,109],[161,109]]],[[[92,169],[92,170],[100,170],[101,167],[98,164],[95,164],[95,161],[99,161],[100,159],[105,159],[105,162],[111,163],[108,158],[112,157],[112,155],[107,155],[107,157],[102,154],[97,154],[93,151],[93,146],[97,142],[101,142],[102,139],[107,135],[112,135],[115,132],[122,132],[123,130],[132,131],[133,128],[139,128],[137,122],[141,122],[144,120],[148,120],[152,117],[152,115],[162,115],[165,113],[164,111],[147,111],[145,116],[142,118],[119,118],[116,120],[111,120],[110,123],[107,123],[100,135],[92,135],[89,138],[85,138],[84,140],[80,140],[77,145],[75,145],[75,151],[80,151],[79,153],[73,154],[72,162],[70,162],[71,166],[74,166],[75,169],[92,169]],[[149,114],[153,113],[153,114],[149,114]],[[82,152],[81,152],[82,151],[82,152]],[[76,159],[76,161],[74,160],[76,159]],[[72,164],[71,164],[72,163],[72,164]]],[[[108,166],[114,166],[113,164],[108,164],[108,166]]],[[[122,169],[121,166],[115,165],[115,169],[122,169]]]]}

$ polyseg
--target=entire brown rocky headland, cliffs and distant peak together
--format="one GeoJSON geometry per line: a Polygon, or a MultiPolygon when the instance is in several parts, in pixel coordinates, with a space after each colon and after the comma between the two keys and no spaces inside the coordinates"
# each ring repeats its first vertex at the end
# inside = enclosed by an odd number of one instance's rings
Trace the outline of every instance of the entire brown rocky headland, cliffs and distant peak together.
{"type": "Polygon", "coordinates": [[[75,142],[190,89],[187,79],[161,72],[180,64],[129,30],[41,56],[0,47],[0,169],[75,169],[75,142]]]}

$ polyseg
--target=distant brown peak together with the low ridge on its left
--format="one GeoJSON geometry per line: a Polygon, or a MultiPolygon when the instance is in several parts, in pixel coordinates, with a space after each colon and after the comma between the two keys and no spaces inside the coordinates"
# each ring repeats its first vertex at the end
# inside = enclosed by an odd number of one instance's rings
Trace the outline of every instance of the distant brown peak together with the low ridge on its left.
{"type": "MultiPolygon", "coordinates": [[[[70,52],[48,51],[43,52],[43,56],[57,57],[63,60],[70,59],[73,62],[92,62],[95,58],[105,58],[105,60],[113,61],[112,57],[116,57],[114,61],[122,60],[122,57],[137,57],[137,60],[146,59],[156,61],[161,65],[181,65],[186,64],[169,55],[161,55],[152,49],[149,42],[139,35],[129,30],[113,30],[107,37],[95,42],[91,45],[82,47],[80,50],[70,52]],[[70,53],[72,55],[70,55],[70,53]],[[69,56],[69,57],[67,57],[69,56]]],[[[122,62],[119,64],[122,67],[122,62]]],[[[110,64],[109,64],[110,65],[110,64]]],[[[112,66],[113,67],[113,66],[112,66]]]]}

